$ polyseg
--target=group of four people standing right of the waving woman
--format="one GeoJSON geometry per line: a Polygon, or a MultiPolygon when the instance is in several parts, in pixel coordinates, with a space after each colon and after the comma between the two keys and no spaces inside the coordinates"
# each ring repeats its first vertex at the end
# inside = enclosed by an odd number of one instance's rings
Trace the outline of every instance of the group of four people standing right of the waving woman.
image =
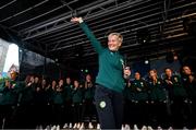
{"type": "Polygon", "coordinates": [[[164,129],[196,127],[196,79],[191,68],[182,67],[180,74],[166,68],[163,73],[159,78],[152,69],[146,79],[134,73],[124,91],[125,123],[164,129]]]}

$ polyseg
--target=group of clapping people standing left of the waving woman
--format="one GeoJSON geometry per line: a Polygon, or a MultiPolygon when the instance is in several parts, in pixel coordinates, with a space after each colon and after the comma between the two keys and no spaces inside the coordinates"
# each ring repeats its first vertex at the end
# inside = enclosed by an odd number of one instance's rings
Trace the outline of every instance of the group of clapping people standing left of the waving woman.
{"type": "MultiPolygon", "coordinates": [[[[16,72],[1,83],[0,120],[2,128],[79,128],[84,120],[97,120],[93,104],[95,86],[90,74],[77,79],[49,80],[27,75],[17,81],[16,72]]],[[[84,126],[84,123],[83,123],[84,126]]]]}

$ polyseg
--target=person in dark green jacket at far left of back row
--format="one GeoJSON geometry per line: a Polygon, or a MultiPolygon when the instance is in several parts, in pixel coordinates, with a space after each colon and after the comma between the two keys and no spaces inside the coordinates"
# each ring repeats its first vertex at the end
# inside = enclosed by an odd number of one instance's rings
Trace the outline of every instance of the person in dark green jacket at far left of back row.
{"type": "Polygon", "coordinates": [[[0,120],[3,122],[3,129],[15,128],[15,111],[19,102],[19,92],[21,83],[17,80],[19,73],[16,71],[10,72],[10,79],[4,80],[0,87],[0,107],[3,117],[0,120]]]}

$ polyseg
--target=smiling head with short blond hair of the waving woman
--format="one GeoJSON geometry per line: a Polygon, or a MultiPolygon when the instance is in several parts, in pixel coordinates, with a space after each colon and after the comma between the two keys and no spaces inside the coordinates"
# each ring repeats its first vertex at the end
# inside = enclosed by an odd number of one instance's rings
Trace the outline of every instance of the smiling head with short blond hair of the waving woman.
{"type": "Polygon", "coordinates": [[[122,45],[123,37],[119,33],[111,33],[108,36],[108,48],[111,51],[118,51],[122,45]]]}

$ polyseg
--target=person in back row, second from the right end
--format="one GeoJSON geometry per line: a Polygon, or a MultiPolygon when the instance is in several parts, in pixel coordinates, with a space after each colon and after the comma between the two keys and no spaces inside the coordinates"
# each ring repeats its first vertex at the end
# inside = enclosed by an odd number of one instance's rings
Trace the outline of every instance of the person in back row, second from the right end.
{"type": "Polygon", "coordinates": [[[186,103],[187,93],[180,75],[173,74],[170,68],[164,69],[164,85],[171,102],[172,125],[174,128],[183,128],[187,120],[186,103]]]}

